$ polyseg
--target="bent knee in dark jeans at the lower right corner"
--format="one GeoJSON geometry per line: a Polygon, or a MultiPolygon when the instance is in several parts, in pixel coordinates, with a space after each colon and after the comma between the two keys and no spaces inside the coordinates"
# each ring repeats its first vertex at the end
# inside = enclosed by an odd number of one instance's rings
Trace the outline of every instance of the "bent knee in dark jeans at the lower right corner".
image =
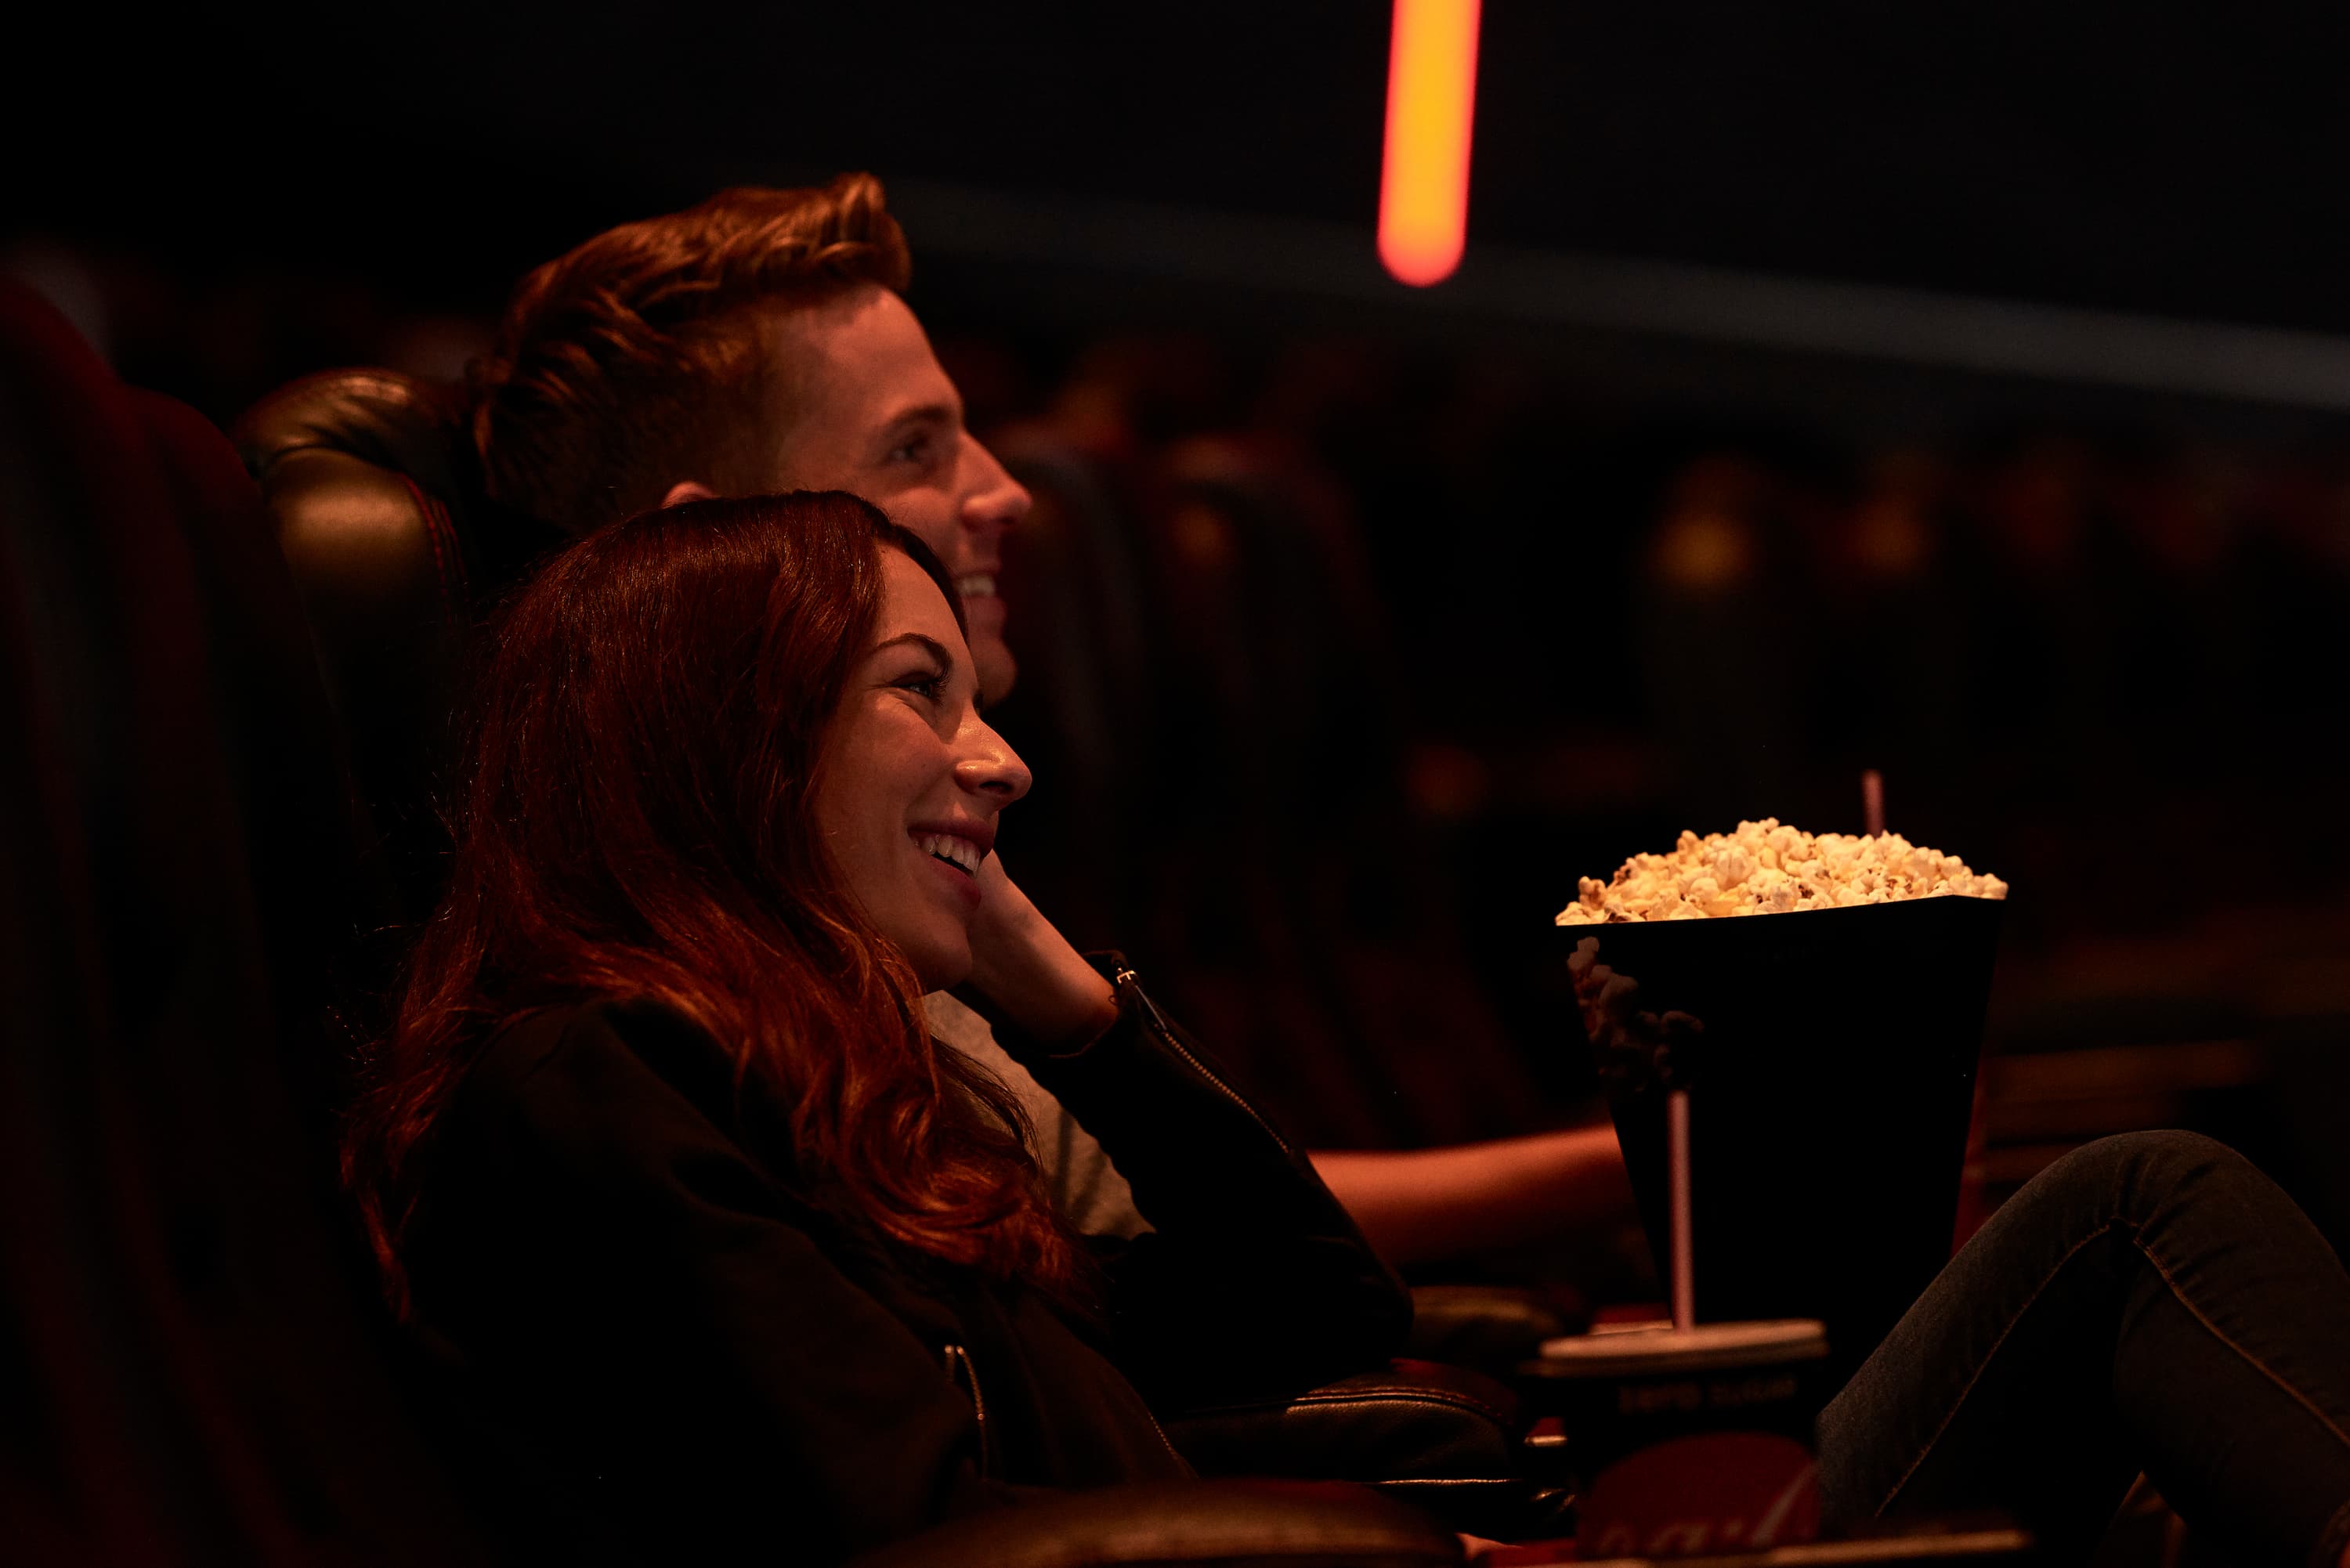
{"type": "Polygon", "coordinates": [[[2009,1199],[1819,1418],[1831,1519],[1998,1507],[2049,1561],[2141,1469],[2247,1561],[2350,1540],[2350,1276],[2193,1133],[2106,1138],[2009,1199]]]}

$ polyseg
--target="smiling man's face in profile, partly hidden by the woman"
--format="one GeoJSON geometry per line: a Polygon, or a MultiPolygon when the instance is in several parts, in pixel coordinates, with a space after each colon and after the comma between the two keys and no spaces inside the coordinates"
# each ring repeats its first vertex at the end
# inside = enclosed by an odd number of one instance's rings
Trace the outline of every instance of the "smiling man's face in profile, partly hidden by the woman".
{"type": "Polygon", "coordinates": [[[964,400],[905,301],[858,287],[778,317],[787,418],[776,475],[794,489],[846,489],[912,529],[947,564],[971,621],[980,691],[1013,684],[1003,646],[1003,529],[1029,494],[964,430],[964,400]]]}

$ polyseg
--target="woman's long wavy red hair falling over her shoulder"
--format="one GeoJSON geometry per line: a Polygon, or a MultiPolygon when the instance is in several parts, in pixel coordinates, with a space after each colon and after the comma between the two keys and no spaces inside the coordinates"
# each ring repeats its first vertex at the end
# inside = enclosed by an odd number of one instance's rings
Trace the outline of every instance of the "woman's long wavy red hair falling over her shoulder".
{"type": "Polygon", "coordinates": [[[1010,1091],[935,1046],[921,983],[811,820],[825,733],[881,614],[855,496],[696,501],[602,529],[505,609],[477,668],[449,893],[409,959],[343,1175],[407,1312],[402,1232],[435,1119],[515,1018],[658,1001],[790,1107],[825,1201],[1055,1293],[1076,1251],[1010,1091]]]}

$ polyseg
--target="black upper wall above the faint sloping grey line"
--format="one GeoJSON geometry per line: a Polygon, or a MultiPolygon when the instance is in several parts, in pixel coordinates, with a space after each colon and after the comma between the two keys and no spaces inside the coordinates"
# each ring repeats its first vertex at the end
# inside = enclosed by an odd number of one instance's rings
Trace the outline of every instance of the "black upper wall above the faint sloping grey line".
{"type": "MultiPolygon", "coordinates": [[[[724,179],[1368,221],[1386,12],[1337,5],[33,9],[47,219],[479,306],[724,179]]],[[[1495,0],[1480,242],[2345,329],[2338,7],[1495,0]]]]}

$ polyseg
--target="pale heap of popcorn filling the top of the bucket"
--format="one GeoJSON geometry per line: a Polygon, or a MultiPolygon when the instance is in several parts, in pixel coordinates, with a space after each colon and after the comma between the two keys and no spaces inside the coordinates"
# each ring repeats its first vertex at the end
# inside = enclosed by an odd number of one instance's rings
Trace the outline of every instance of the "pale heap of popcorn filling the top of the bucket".
{"type": "Polygon", "coordinates": [[[1633,856],[1612,882],[1584,877],[1560,926],[1845,910],[1901,898],[2007,898],[2007,884],[1899,832],[1812,837],[1767,816],[1737,832],[1683,832],[1671,853],[1633,856]]]}

